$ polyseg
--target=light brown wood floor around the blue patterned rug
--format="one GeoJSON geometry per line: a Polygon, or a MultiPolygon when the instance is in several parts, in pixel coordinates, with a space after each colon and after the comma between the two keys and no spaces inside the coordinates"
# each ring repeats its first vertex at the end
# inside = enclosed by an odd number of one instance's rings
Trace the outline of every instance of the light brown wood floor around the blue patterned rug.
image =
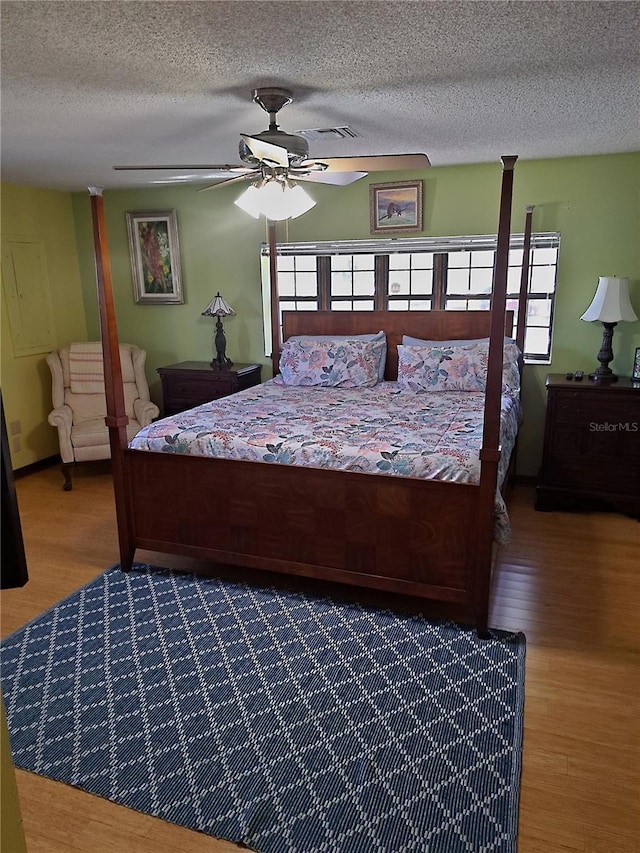
{"type": "MultiPolygon", "coordinates": [[[[118,561],[108,465],[80,466],[72,492],[61,484],[56,468],[17,481],[30,581],[2,592],[3,636],[118,561]]],[[[527,637],[519,853],[637,853],[640,524],[537,513],[524,486],[509,507],[514,532],[500,551],[490,624],[527,637]]],[[[29,853],[239,849],[24,771],[17,778],[29,853]]]]}

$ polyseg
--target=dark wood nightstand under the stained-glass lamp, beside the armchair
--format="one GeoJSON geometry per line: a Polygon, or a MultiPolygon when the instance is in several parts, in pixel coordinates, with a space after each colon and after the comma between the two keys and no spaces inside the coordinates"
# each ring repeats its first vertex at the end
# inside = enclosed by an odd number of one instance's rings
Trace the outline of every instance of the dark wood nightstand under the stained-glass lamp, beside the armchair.
{"type": "Polygon", "coordinates": [[[211,367],[208,361],[181,361],[159,367],[163,415],[175,415],[260,384],[260,364],[211,367]]]}

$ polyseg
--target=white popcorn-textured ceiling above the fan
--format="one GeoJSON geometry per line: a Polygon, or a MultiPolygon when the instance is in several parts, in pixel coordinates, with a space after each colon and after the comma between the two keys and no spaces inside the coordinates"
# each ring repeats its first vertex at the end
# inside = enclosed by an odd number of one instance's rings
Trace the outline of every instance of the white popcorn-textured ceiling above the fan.
{"type": "MultiPolygon", "coordinates": [[[[640,149],[638,2],[3,0],[2,179],[67,190],[237,163],[267,115],[348,125],[314,157],[424,152],[434,166],[640,149]]],[[[206,173],[198,179],[205,180],[206,173]]]]}

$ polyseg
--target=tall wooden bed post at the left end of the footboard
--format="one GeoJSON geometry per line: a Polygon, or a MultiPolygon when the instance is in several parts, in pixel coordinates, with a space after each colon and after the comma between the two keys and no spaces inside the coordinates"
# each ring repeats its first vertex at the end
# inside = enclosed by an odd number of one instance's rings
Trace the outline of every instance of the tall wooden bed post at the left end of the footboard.
{"type": "Polygon", "coordinates": [[[116,502],[118,542],[120,543],[120,567],[126,572],[131,568],[135,552],[124,455],[127,447],[129,418],[124,405],[118,325],[113,303],[111,264],[107,245],[102,189],[100,187],[89,187],[89,193],[91,196],[100,336],[102,338],[102,360],[104,362],[105,396],[107,400],[105,423],[109,429],[109,444],[111,446],[111,470],[113,472],[116,502]]]}

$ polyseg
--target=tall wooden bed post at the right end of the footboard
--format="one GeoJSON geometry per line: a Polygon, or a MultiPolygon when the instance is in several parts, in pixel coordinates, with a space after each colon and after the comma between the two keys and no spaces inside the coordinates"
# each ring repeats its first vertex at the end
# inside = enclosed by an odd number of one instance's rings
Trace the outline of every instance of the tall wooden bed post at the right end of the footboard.
{"type": "Polygon", "coordinates": [[[502,189],[498,219],[498,245],[491,297],[491,333],[489,335],[489,364],[484,406],[484,427],[480,451],[480,496],[476,519],[478,553],[473,580],[473,610],[478,636],[487,636],[489,621],[489,588],[493,548],[493,507],[500,461],[500,410],[502,401],[502,363],[504,322],[507,302],[507,270],[511,233],[511,202],[513,170],[517,157],[502,160],[502,189]]]}

